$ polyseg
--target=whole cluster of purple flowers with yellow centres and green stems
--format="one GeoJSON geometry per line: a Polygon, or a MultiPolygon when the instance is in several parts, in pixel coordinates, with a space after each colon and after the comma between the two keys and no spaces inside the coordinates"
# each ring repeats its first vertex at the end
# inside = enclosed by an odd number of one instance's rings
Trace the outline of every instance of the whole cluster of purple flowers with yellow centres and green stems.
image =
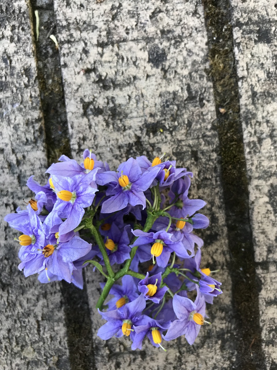
{"type": "Polygon", "coordinates": [[[62,155],[46,185],[28,179],[35,195],[27,207],[5,217],[21,233],[25,276],[82,289],[83,266],[102,273],[96,307],[107,322],[98,336],[128,336],[132,349],[145,337],[163,350],[163,340],[181,335],[194,343],[208,323],[206,303],[222,293],[216,271],[200,267],[203,240],[194,234],[209,225],[196,213],[206,203],[188,198],[192,173],[162,158],[129,158],[110,171],[88,149],[82,164],[62,155]]]}

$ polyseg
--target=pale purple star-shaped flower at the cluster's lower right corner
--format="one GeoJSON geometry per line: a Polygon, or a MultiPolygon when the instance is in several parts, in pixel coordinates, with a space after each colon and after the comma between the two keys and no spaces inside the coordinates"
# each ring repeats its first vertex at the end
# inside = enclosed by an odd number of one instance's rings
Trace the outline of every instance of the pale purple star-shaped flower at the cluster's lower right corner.
{"type": "Polygon", "coordinates": [[[197,289],[195,302],[187,297],[174,295],[173,309],[178,317],[168,329],[165,340],[172,340],[185,334],[189,344],[193,344],[205,320],[205,299],[197,289]]]}

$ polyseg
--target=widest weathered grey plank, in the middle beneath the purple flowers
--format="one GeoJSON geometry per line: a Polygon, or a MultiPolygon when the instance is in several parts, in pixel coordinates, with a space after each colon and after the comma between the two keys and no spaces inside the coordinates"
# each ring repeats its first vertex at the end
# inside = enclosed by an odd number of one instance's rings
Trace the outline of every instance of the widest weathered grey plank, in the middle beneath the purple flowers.
{"type": "Polygon", "coordinates": [[[89,269],[96,367],[117,369],[124,361],[132,369],[229,368],[235,361],[229,254],[202,4],[55,0],[54,6],[74,155],[89,147],[116,168],[129,156],[165,151],[191,169],[191,196],[208,202],[205,213],[214,225],[203,233],[204,259],[221,268],[224,287],[208,307],[213,324],[195,346],[182,338],[168,343],[167,353],[147,343],[131,352],[127,339],[96,336],[103,321],[93,307],[102,278],[89,269]]]}

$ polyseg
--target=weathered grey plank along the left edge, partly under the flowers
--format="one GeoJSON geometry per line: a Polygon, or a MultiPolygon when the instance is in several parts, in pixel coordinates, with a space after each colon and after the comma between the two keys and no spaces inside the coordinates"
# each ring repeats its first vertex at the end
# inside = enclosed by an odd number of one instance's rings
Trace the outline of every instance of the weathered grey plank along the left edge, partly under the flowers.
{"type": "Polygon", "coordinates": [[[47,158],[27,1],[2,1],[0,23],[0,368],[69,369],[59,285],[17,269],[18,232],[3,221],[24,207],[31,174],[45,181],[47,158]]]}

